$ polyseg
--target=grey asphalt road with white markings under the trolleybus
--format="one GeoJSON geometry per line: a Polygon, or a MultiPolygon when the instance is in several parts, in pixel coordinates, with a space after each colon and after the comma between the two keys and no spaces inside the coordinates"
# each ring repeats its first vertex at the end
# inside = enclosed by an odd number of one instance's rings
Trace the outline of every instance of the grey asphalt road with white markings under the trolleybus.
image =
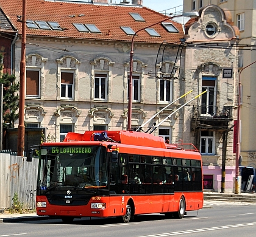
{"type": "Polygon", "coordinates": [[[183,219],[165,216],[141,215],[135,222],[123,224],[116,218],[82,218],[73,224],[60,219],[41,221],[4,222],[0,224],[2,236],[255,236],[256,204],[210,202],[212,208],[190,211],[183,219]]]}

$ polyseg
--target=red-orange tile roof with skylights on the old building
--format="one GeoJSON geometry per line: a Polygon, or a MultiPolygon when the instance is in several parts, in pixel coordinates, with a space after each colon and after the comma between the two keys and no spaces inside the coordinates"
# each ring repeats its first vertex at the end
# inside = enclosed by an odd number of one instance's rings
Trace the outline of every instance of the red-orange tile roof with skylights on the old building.
{"type": "MultiPolygon", "coordinates": [[[[21,33],[21,22],[16,20],[17,15],[21,16],[23,13],[23,0],[0,0],[0,7],[5,15],[10,18],[13,26],[21,33]]],[[[126,35],[120,28],[121,26],[131,27],[136,32],[165,18],[165,15],[154,12],[146,7],[135,7],[132,5],[96,5],[89,2],[27,0],[27,20],[56,21],[60,24],[60,27],[66,28],[66,30],[27,28],[26,34],[87,40],[131,41],[132,36],[126,35]],[[145,22],[135,21],[130,16],[130,12],[139,13],[145,22]],[[74,17],[70,17],[71,15],[74,15],[74,17]],[[73,26],[73,23],[94,24],[101,33],[79,32],[73,26]]],[[[150,36],[142,30],[138,32],[138,37],[135,37],[135,41],[145,43],[179,42],[179,39],[183,38],[182,25],[169,19],[166,22],[172,22],[179,30],[179,33],[169,33],[161,24],[157,24],[152,28],[161,37],[150,36]]]]}

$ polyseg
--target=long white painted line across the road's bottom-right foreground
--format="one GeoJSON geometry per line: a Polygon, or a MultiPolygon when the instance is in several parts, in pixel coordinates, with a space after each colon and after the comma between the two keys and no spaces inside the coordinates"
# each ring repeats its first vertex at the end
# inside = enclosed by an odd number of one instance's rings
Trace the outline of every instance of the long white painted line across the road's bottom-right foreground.
{"type": "Polygon", "coordinates": [[[225,229],[225,228],[236,228],[236,227],[249,226],[249,225],[256,225],[256,222],[238,224],[238,225],[223,225],[223,226],[210,227],[210,228],[199,228],[199,229],[195,229],[195,230],[184,230],[182,232],[162,233],[162,234],[156,234],[156,235],[143,235],[140,237],[163,237],[163,236],[173,236],[173,235],[184,235],[184,234],[207,232],[210,230],[221,230],[221,229],[225,229]]]}

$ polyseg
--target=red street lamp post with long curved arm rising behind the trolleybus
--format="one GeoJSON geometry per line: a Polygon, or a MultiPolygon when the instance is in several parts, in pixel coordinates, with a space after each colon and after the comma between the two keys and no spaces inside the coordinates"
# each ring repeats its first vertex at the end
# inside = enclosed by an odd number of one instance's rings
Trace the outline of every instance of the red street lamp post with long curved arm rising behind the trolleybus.
{"type": "Polygon", "coordinates": [[[132,36],[132,46],[131,46],[131,50],[130,50],[130,75],[129,75],[129,94],[128,94],[128,125],[127,125],[127,129],[130,130],[131,129],[131,122],[132,122],[132,72],[133,72],[133,45],[134,45],[134,40],[135,40],[135,36],[137,35],[138,32],[141,32],[141,30],[145,30],[149,27],[155,26],[157,24],[160,24],[164,21],[167,21],[168,19],[172,19],[172,18],[176,18],[176,17],[180,17],[180,16],[189,16],[189,17],[197,17],[199,16],[198,12],[188,12],[188,13],[183,13],[182,15],[177,15],[177,16],[171,16],[169,18],[163,19],[162,21],[156,22],[150,26],[144,27],[140,30],[137,30],[137,32],[134,33],[134,35],[132,36]]]}

